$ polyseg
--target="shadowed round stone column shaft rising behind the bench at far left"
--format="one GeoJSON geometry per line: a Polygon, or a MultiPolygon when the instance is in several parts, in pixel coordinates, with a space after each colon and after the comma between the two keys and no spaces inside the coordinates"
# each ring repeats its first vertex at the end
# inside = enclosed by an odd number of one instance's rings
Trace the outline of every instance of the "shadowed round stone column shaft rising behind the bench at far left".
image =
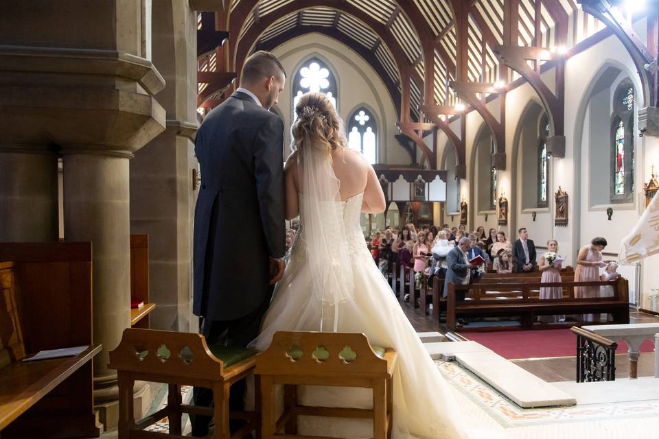
{"type": "Polygon", "coordinates": [[[56,241],[57,156],[0,147],[0,242],[56,241]]]}

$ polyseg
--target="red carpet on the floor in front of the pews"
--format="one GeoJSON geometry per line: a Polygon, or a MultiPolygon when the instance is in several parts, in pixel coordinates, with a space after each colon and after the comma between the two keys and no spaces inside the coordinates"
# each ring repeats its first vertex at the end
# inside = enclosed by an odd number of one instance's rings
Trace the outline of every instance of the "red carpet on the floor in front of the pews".
{"type": "MultiPolygon", "coordinates": [[[[463,332],[460,335],[492,349],[506,359],[573,357],[577,355],[577,336],[569,329],[463,332]]],[[[654,343],[645,340],[640,346],[640,351],[654,351],[654,343]]],[[[622,353],[627,353],[627,343],[618,342],[616,354],[622,353]]]]}

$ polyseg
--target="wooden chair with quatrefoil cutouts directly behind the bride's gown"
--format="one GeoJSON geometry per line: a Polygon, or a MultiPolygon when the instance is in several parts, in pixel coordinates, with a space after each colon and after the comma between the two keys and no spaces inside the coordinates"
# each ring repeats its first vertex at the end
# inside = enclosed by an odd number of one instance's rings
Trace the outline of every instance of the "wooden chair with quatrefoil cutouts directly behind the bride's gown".
{"type": "Polygon", "coordinates": [[[392,377],[396,352],[369,344],[362,333],[278,332],[256,359],[261,381],[262,438],[297,435],[298,416],[373,419],[373,438],[391,438],[392,377]],[[284,413],[275,414],[275,385],[284,385],[284,413]],[[373,410],[299,405],[297,385],[373,389],[373,410]],[[281,431],[284,430],[284,434],[281,431]]]}

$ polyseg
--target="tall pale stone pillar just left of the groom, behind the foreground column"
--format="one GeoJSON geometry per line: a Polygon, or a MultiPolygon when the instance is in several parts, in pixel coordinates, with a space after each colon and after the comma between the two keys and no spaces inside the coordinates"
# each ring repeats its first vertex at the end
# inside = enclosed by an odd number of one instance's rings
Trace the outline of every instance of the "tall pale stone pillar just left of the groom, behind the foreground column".
{"type": "Polygon", "coordinates": [[[192,187],[196,132],[196,14],[185,2],[153,4],[152,60],[167,80],[158,101],[167,130],[130,163],[130,231],[149,236],[154,329],[198,330],[192,316],[192,187]]]}

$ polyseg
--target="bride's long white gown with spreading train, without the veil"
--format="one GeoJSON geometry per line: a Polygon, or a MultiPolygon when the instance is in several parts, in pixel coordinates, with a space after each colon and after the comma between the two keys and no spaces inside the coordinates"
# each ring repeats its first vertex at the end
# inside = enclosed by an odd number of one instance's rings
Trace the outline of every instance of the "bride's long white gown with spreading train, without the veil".
{"type": "MultiPolygon", "coordinates": [[[[457,427],[460,410],[450,385],[430,359],[391,287],[373,263],[359,224],[362,197],[360,193],[343,202],[330,202],[343,210],[347,239],[347,254],[343,257],[352,266],[354,300],[329,305],[310,292],[314,269],[309,263],[302,217],[303,224],[290,250],[284,277],[277,283],[273,302],[264,317],[262,333],[251,346],[265,350],[277,331],[365,333],[372,345],[392,347],[398,353],[393,377],[393,438],[464,437],[457,427]]],[[[304,202],[301,196],[300,203],[304,202]]],[[[327,260],[329,263],[329,257],[327,260]]],[[[371,390],[367,389],[306,386],[298,389],[298,395],[303,404],[372,407],[371,390]]],[[[373,430],[369,420],[307,417],[299,420],[299,434],[371,438],[373,430]]]]}

